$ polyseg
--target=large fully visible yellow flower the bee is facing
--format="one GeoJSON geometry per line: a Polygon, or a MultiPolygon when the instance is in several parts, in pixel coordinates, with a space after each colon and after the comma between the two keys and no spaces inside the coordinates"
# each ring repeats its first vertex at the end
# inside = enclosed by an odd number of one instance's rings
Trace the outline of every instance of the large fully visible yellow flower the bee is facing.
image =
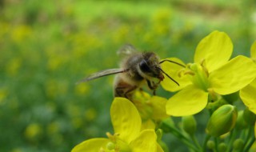
{"type": "MultiPolygon", "coordinates": [[[[178,69],[182,84],[175,86],[169,82],[164,86],[166,90],[173,90],[172,87],[182,89],[166,103],[167,114],[196,114],[206,107],[208,95],[214,102],[218,100],[218,94],[234,93],[252,82],[256,77],[256,65],[241,55],[229,60],[232,51],[233,44],[223,32],[214,31],[203,38],[195,51],[194,63],[188,64],[186,69],[178,69]]],[[[163,70],[174,75],[170,67],[173,66],[162,64],[163,70]]]]}

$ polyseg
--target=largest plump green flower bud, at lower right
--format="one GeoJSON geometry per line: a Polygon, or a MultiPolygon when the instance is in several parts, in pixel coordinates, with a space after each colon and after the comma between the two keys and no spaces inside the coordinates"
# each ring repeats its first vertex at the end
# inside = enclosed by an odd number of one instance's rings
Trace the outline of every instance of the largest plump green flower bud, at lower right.
{"type": "Polygon", "coordinates": [[[214,137],[226,134],[234,128],[238,111],[235,106],[223,105],[211,115],[206,132],[214,137]]]}

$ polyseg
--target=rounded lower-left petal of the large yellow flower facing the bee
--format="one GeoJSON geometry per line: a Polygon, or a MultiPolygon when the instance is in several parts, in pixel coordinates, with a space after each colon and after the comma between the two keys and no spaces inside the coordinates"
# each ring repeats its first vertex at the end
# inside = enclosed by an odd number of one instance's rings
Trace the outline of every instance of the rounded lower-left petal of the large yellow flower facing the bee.
{"type": "Polygon", "coordinates": [[[174,94],[166,103],[166,113],[172,116],[186,116],[200,112],[207,105],[208,93],[194,85],[186,86],[174,94]]]}

